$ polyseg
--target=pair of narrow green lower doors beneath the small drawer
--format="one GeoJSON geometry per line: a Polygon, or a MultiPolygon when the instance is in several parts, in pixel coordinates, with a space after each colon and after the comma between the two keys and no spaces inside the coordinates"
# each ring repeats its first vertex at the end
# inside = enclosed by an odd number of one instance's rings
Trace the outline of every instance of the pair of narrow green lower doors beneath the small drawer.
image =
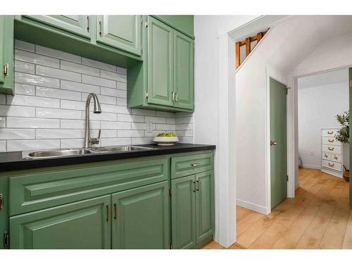
{"type": "Polygon", "coordinates": [[[171,181],[172,248],[191,249],[214,234],[213,171],[171,181]]]}

